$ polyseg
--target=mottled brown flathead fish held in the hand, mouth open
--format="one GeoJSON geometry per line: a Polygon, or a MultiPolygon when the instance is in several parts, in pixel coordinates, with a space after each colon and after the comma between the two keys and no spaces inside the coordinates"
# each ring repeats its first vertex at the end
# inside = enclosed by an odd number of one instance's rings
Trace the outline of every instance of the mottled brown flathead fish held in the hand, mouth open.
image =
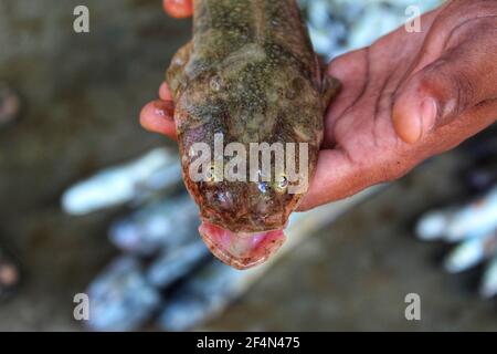
{"type": "Polygon", "coordinates": [[[197,147],[215,152],[219,136],[222,145],[245,150],[252,144],[295,144],[298,153],[289,159],[287,154],[286,163],[307,159],[310,179],[324,114],[340,84],[322,70],[295,0],[194,0],[193,12],[193,39],[167,72],[182,176],[200,208],[202,239],[224,263],[244,270],[282,247],[306,188],[289,192],[298,183],[277,168],[275,157],[269,174],[260,165],[251,173],[248,164],[239,165],[237,173],[258,178],[231,180],[220,173],[232,160],[215,154],[198,180],[197,147]]]}

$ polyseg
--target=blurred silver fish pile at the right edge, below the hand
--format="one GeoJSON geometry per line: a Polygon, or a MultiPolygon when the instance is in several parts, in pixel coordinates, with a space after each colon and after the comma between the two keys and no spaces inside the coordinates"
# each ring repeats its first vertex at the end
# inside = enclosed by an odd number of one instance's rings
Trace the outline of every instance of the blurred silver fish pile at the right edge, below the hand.
{"type": "Polygon", "coordinates": [[[416,227],[422,240],[456,243],[444,260],[450,273],[461,273],[487,262],[479,287],[484,298],[497,295],[497,139],[496,128],[463,146],[473,162],[461,174],[468,190],[476,195],[462,206],[433,210],[416,227]]]}

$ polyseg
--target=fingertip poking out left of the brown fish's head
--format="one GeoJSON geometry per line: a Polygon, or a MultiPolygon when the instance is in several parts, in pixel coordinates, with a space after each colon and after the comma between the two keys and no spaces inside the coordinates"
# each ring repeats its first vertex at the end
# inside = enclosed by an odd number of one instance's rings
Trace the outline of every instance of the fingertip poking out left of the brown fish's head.
{"type": "Polygon", "coordinates": [[[140,124],[149,132],[177,139],[173,112],[173,103],[170,101],[150,102],[141,110],[140,124]]]}

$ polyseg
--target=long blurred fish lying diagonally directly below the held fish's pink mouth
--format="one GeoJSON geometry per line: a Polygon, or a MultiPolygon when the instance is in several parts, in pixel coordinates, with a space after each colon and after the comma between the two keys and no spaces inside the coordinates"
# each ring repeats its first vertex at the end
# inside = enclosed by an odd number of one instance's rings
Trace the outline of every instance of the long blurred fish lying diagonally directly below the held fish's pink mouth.
{"type": "Polygon", "coordinates": [[[193,270],[178,287],[169,289],[158,311],[158,326],[165,331],[187,331],[207,323],[221,314],[234,300],[262,279],[281,258],[313,232],[331,223],[383,188],[384,186],[372,187],[346,200],[307,212],[293,214],[287,229],[286,247],[260,267],[241,271],[225,267],[212,258],[193,270]]]}

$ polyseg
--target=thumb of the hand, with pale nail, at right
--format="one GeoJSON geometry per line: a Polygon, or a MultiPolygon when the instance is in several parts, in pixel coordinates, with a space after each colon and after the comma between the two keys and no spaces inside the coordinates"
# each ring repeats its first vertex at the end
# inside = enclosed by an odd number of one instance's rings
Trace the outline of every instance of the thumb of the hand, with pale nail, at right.
{"type": "Polygon", "coordinates": [[[458,34],[462,43],[401,87],[392,119],[405,143],[417,143],[476,105],[497,98],[496,23],[496,19],[482,20],[472,31],[458,34]],[[486,22],[493,22],[491,28],[486,22]]]}

